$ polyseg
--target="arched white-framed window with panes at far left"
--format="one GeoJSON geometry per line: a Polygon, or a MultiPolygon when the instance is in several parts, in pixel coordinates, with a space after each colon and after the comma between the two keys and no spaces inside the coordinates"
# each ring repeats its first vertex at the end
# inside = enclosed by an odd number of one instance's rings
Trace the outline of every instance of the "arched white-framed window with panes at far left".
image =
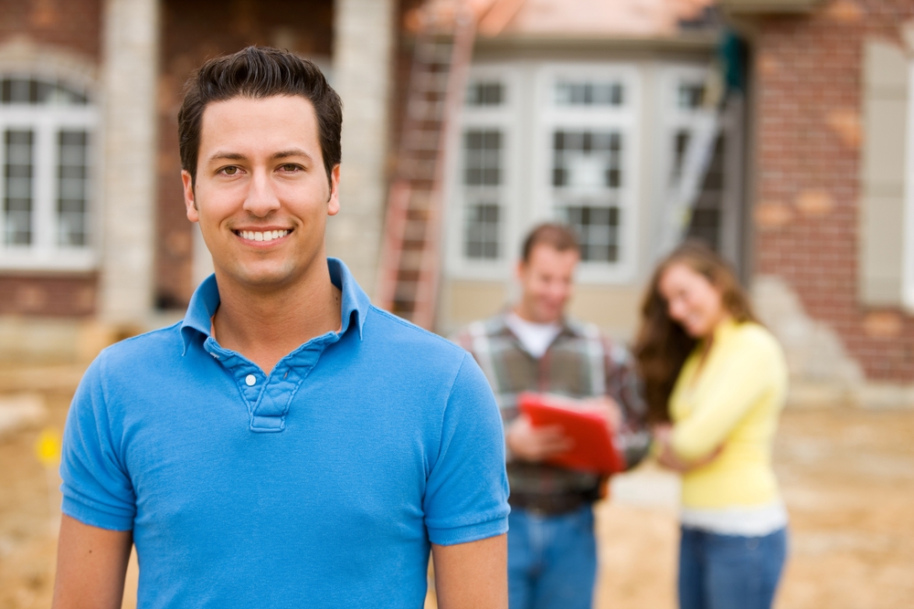
{"type": "Polygon", "coordinates": [[[97,120],[79,86],[0,76],[0,268],[94,265],[97,120]]]}

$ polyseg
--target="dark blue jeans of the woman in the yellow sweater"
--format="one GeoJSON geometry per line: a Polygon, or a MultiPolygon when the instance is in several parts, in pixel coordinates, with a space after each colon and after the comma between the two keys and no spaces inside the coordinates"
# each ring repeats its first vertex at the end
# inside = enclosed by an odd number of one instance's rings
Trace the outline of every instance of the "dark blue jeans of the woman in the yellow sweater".
{"type": "Polygon", "coordinates": [[[763,537],[682,528],[680,609],[770,609],[787,556],[787,530],[763,537]]]}

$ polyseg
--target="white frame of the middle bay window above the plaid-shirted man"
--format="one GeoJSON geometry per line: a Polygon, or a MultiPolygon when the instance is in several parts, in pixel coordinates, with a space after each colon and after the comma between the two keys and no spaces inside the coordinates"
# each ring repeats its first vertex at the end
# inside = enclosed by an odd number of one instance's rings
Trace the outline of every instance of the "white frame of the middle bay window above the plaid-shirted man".
{"type": "Polygon", "coordinates": [[[638,226],[640,223],[639,188],[641,171],[640,115],[642,82],[640,70],[632,63],[568,62],[546,63],[537,71],[538,136],[534,146],[534,167],[538,168],[534,185],[537,215],[541,219],[559,219],[551,200],[552,142],[558,129],[614,129],[622,133],[622,167],[624,181],[619,199],[621,228],[619,258],[616,262],[581,262],[577,279],[581,283],[622,284],[635,278],[638,256],[638,226]],[[555,103],[558,79],[587,79],[592,81],[618,79],[622,82],[622,106],[568,106],[555,103]]]}

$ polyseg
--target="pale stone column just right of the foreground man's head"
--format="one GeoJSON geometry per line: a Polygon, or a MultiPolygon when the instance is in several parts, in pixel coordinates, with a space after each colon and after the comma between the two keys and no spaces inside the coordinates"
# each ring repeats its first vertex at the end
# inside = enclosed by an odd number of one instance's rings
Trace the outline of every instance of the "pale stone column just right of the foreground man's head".
{"type": "Polygon", "coordinates": [[[393,0],[336,0],[334,89],[343,99],[339,215],[327,227],[327,253],[340,257],[373,295],[387,196],[385,162],[393,0]]]}

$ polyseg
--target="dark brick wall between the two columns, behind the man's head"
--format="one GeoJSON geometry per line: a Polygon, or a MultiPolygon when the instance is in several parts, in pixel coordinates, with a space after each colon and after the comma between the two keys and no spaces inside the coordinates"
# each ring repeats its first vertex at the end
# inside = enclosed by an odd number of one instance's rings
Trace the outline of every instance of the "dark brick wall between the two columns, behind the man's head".
{"type": "Polygon", "coordinates": [[[177,145],[184,83],[207,58],[248,45],[329,58],[333,0],[164,0],[162,9],[155,299],[160,309],[183,309],[197,287],[191,281],[194,226],[185,215],[177,145]]]}

